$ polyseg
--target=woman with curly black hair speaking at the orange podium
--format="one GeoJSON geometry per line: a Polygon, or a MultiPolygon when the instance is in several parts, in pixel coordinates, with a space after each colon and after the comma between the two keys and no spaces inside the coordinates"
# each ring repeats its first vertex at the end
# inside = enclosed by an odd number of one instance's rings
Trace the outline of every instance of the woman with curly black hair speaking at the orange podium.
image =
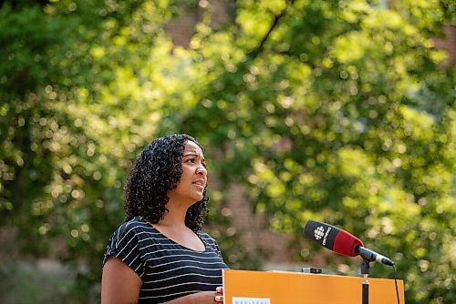
{"type": "Polygon", "coordinates": [[[188,135],[146,147],[125,187],[126,222],[109,238],[101,302],[223,302],[222,269],[213,238],[202,232],[207,168],[188,135]]]}

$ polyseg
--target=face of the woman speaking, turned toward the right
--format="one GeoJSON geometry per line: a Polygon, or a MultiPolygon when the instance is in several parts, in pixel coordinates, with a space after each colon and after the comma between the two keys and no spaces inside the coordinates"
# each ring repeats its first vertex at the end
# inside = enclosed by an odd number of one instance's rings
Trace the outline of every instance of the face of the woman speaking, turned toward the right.
{"type": "Polygon", "coordinates": [[[187,141],[182,154],[181,180],[175,189],[168,191],[172,200],[185,200],[192,204],[202,200],[202,192],[207,184],[207,169],[202,149],[192,141],[187,141]]]}

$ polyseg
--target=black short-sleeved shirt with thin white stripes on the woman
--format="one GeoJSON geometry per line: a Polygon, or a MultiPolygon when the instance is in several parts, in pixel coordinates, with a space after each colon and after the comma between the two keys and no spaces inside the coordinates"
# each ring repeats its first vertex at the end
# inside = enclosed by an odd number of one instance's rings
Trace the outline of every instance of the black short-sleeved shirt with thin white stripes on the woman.
{"type": "Polygon", "coordinates": [[[103,265],[113,256],[140,276],[139,303],[161,303],[198,291],[214,291],[222,286],[222,269],[228,267],[217,242],[201,230],[197,235],[204,251],[183,247],[142,218],[132,218],[109,238],[103,265]]]}

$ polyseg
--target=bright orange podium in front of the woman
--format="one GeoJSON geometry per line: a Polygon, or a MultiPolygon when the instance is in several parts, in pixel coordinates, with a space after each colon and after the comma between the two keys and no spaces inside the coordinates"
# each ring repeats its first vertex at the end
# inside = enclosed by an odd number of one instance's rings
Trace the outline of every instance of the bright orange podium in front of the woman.
{"type": "MultiPolygon", "coordinates": [[[[361,304],[360,277],[287,271],[223,270],[224,304],[361,304]]],[[[396,304],[394,279],[369,278],[369,304],[396,304]]],[[[400,304],[404,284],[398,279],[400,304]]]]}

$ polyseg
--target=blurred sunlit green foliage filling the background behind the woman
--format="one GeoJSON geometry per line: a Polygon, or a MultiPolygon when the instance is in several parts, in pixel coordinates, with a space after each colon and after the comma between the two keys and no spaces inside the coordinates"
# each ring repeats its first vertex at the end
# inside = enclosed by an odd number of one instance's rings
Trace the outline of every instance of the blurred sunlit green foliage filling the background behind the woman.
{"type": "MultiPolygon", "coordinates": [[[[208,227],[232,268],[263,258],[225,233],[235,183],[293,236],[296,262],[321,249],[301,232],[322,220],[393,258],[407,303],[456,302],[456,69],[431,40],[455,3],[225,2],[224,23],[206,0],[1,2],[1,301],[97,302],[132,161],[185,132],[219,181],[208,227]],[[200,22],[175,46],[166,26],[189,11],[200,22]],[[17,266],[36,258],[71,275],[46,289],[17,266]]],[[[358,259],[325,257],[358,274],[358,259]]]]}

